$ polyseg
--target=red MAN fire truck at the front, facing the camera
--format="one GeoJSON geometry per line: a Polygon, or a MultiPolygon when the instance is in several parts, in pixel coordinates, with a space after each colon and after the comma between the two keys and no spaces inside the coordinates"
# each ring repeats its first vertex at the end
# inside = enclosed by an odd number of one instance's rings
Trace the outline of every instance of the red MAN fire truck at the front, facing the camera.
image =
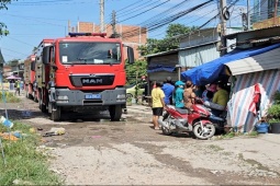
{"type": "Polygon", "coordinates": [[[41,111],[60,120],[61,113],[108,109],[111,120],[120,120],[126,103],[124,48],[134,62],[133,48],[126,47],[104,33],[69,33],[42,47],[36,53],[41,111]]]}

